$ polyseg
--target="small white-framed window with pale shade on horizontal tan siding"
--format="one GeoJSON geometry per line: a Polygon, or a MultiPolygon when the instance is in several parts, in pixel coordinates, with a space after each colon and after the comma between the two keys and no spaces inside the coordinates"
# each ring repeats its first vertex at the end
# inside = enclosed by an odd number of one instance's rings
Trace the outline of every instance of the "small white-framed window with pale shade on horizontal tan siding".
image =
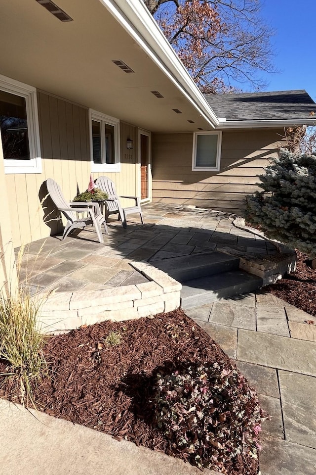
{"type": "Polygon", "coordinates": [[[219,171],[222,132],[195,132],[193,138],[192,170],[219,171]]]}

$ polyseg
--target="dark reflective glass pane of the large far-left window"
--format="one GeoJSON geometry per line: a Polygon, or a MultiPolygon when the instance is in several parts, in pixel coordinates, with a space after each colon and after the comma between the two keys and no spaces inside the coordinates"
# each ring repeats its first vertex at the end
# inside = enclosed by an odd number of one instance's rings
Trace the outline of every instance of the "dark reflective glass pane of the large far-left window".
{"type": "Polygon", "coordinates": [[[3,157],[30,160],[26,99],[0,91],[0,129],[3,157]]]}

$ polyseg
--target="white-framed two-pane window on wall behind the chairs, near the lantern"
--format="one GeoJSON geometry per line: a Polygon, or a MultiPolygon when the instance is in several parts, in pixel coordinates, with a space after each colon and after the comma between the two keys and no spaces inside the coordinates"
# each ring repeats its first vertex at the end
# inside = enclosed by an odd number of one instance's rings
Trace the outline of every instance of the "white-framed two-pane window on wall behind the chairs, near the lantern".
{"type": "Polygon", "coordinates": [[[90,110],[91,171],[119,172],[119,120],[90,110]]]}

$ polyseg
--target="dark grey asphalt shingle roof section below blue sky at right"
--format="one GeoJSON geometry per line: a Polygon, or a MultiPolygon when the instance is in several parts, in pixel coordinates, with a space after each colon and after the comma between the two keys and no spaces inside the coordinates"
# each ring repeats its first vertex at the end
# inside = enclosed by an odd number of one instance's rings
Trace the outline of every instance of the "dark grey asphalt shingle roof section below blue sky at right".
{"type": "Polygon", "coordinates": [[[205,94],[218,117],[226,120],[312,119],[316,103],[305,90],[245,94],[205,94]]]}

